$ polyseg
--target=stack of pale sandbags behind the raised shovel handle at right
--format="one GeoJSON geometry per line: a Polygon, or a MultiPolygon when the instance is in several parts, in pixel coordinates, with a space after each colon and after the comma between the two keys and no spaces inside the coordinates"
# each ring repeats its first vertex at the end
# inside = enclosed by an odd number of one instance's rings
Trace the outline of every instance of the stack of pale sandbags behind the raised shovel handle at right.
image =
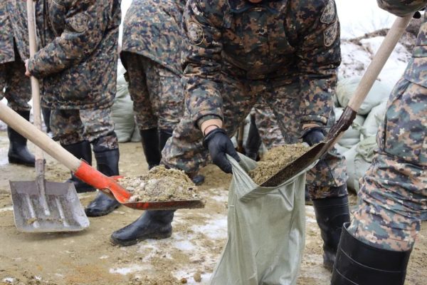
{"type": "MultiPolygon", "coordinates": [[[[337,96],[334,100],[336,120],[339,119],[349,103],[361,79],[361,76],[339,79],[337,96]]],[[[389,83],[375,81],[357,112],[352,126],[335,146],[347,160],[349,174],[347,187],[350,190],[359,191],[359,179],[364,175],[374,157],[374,150],[378,147],[376,145],[376,132],[379,125],[384,122],[387,99],[393,87],[389,83]]]]}

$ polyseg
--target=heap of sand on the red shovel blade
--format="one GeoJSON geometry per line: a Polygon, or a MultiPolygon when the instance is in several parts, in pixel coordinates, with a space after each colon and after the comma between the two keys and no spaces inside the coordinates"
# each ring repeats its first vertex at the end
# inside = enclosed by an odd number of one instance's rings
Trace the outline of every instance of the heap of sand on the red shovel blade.
{"type": "Polygon", "coordinates": [[[129,202],[162,202],[200,199],[197,187],[181,170],[153,167],[147,175],[117,180],[133,195],[129,202]]]}

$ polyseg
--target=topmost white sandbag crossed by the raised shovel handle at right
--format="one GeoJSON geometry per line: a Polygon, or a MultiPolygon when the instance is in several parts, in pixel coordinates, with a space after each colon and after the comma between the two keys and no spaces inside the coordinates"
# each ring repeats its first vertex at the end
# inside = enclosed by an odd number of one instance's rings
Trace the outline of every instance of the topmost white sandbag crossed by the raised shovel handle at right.
{"type": "MultiPolygon", "coordinates": [[[[337,97],[339,105],[342,107],[348,105],[349,100],[352,98],[361,78],[361,76],[354,76],[338,81],[337,97]]],[[[359,115],[367,115],[372,108],[374,108],[376,105],[379,105],[383,100],[386,100],[386,98],[389,98],[391,89],[393,89],[393,87],[394,86],[392,84],[375,81],[374,86],[372,86],[367,95],[367,98],[365,98],[357,113],[359,115]]]]}

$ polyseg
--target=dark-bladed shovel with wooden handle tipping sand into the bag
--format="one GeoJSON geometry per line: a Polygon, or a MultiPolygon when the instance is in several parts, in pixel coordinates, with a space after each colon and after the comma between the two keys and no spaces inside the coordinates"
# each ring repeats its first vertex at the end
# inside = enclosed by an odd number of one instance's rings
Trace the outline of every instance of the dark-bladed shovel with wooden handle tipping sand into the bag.
{"type": "Polygon", "coordinates": [[[327,134],[325,142],[320,142],[319,144],[311,147],[307,152],[302,154],[300,157],[292,161],[289,165],[285,166],[282,170],[279,170],[273,177],[263,183],[264,187],[280,185],[281,182],[287,181],[298,175],[298,173],[307,169],[312,163],[318,160],[322,155],[330,150],[335,142],[339,140],[344,134],[344,131],[352,125],[354,118],[356,117],[357,110],[359,110],[360,105],[362,105],[364,99],[367,97],[369,90],[371,90],[372,85],[376,78],[378,77],[381,69],[384,67],[387,59],[389,58],[391,52],[396,46],[397,42],[403,35],[406,26],[408,26],[409,21],[411,21],[412,15],[405,16],[404,18],[397,18],[394,21],[393,26],[391,26],[389,33],[384,38],[384,41],[381,43],[379,50],[376,52],[374,59],[369,64],[367,71],[364,73],[362,80],[357,86],[352,99],[349,101],[347,107],[344,109],[341,117],[337,120],[330,132],[327,134]]]}

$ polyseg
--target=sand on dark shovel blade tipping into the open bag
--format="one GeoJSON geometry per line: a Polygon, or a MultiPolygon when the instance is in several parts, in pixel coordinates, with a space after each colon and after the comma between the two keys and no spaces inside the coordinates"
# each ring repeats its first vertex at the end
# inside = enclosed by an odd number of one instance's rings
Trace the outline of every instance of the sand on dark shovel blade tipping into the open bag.
{"type": "Polygon", "coordinates": [[[302,143],[273,147],[265,153],[263,158],[258,162],[258,166],[249,172],[249,176],[253,182],[261,185],[307,150],[308,147],[302,143]]]}

